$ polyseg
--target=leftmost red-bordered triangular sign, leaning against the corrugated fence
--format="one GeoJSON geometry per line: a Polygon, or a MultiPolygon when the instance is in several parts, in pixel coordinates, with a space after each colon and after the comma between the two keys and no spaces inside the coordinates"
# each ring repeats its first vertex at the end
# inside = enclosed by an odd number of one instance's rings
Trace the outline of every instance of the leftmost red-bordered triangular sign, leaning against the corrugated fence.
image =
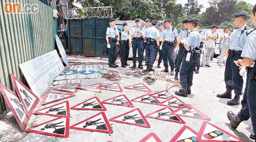
{"type": "Polygon", "coordinates": [[[29,119],[26,115],[22,103],[20,103],[19,98],[16,96],[16,94],[6,86],[2,85],[2,83],[0,83],[0,91],[5,98],[5,101],[9,106],[11,112],[13,112],[13,115],[18,122],[20,129],[24,131],[27,127],[29,119]]]}

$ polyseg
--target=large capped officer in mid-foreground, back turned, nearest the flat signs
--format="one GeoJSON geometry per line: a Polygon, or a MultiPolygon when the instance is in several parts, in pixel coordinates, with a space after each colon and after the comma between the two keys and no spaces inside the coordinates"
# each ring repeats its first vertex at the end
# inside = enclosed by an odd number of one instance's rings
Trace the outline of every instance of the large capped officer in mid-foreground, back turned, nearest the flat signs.
{"type": "Polygon", "coordinates": [[[180,69],[180,84],[182,89],[176,91],[176,95],[187,97],[191,94],[191,86],[193,82],[193,68],[196,65],[197,59],[200,58],[200,42],[201,35],[197,31],[197,19],[189,19],[188,30],[191,31],[188,39],[185,40],[185,55],[180,69]],[[199,51],[199,53],[197,52],[199,51]],[[189,57],[190,56],[190,57],[189,57]]]}

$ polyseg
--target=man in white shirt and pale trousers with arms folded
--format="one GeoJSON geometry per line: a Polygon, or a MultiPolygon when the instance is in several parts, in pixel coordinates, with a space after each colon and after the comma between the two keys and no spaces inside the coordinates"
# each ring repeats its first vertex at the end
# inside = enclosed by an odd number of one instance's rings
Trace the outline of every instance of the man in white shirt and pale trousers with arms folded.
{"type": "Polygon", "coordinates": [[[215,45],[215,41],[218,40],[218,35],[217,35],[217,26],[213,26],[212,27],[212,31],[207,32],[206,37],[205,37],[205,50],[204,50],[204,55],[203,55],[203,59],[202,59],[202,63],[201,63],[201,67],[208,66],[209,65],[209,61],[210,61],[210,56],[212,56],[216,45],[215,45]],[[205,57],[207,57],[207,61],[205,62],[205,57]]]}

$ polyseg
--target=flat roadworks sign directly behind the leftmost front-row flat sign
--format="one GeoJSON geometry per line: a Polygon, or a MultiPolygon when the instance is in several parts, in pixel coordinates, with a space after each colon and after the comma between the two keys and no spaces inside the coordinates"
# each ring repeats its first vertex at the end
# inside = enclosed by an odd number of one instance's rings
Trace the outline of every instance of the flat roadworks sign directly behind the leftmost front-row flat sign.
{"type": "Polygon", "coordinates": [[[34,114],[49,115],[49,116],[64,116],[69,117],[69,103],[68,101],[58,103],[53,106],[49,106],[34,112],[34,114]]]}

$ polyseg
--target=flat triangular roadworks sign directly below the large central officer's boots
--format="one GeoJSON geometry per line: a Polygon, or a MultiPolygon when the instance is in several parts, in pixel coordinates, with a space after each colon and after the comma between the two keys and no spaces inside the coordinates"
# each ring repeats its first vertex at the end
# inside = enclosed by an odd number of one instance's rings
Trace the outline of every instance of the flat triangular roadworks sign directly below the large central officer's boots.
{"type": "Polygon", "coordinates": [[[172,97],[161,103],[162,106],[170,106],[177,108],[189,108],[184,102],[177,97],[172,97]]]}

